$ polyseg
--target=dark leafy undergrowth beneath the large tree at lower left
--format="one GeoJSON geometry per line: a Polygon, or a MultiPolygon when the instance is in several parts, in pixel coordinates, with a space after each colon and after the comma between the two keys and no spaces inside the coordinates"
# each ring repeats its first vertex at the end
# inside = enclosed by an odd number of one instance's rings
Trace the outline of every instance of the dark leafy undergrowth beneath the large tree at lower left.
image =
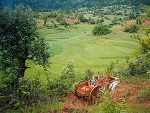
{"type": "Polygon", "coordinates": [[[1,100],[3,101],[3,108],[2,110],[6,109],[20,109],[24,106],[36,106],[38,102],[42,101],[41,94],[43,93],[44,89],[42,88],[41,81],[39,80],[39,76],[36,78],[20,78],[19,79],[19,86],[15,94],[10,94],[6,92],[6,88],[2,89],[1,95],[4,98],[1,100]]]}

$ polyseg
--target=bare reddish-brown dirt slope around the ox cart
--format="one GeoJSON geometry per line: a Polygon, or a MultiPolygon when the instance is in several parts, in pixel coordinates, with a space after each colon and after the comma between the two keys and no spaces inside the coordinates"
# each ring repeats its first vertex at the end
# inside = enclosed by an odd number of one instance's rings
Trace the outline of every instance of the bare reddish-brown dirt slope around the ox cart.
{"type": "MultiPolygon", "coordinates": [[[[139,78],[138,78],[139,79],[139,78]]],[[[140,80],[140,81],[123,81],[121,82],[114,91],[111,91],[112,101],[117,102],[119,99],[126,100],[126,105],[130,106],[133,104],[142,104],[150,106],[150,95],[147,95],[145,102],[139,103],[137,95],[144,88],[150,87],[149,80],[140,80]]],[[[141,97],[142,98],[142,97],[141,97]]],[[[90,107],[85,100],[79,99],[74,93],[71,93],[66,97],[66,101],[63,102],[63,113],[72,113],[74,109],[83,110],[83,113],[88,113],[85,109],[90,107]]]]}

